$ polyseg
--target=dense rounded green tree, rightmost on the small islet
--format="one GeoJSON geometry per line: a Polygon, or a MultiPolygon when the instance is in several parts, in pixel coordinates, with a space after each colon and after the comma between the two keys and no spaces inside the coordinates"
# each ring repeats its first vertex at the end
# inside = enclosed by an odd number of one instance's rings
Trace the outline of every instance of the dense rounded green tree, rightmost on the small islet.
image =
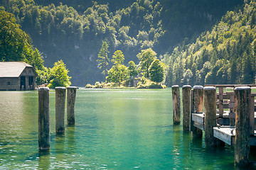
{"type": "Polygon", "coordinates": [[[154,60],[149,67],[149,78],[151,81],[161,83],[164,80],[164,63],[158,59],[154,60]]]}

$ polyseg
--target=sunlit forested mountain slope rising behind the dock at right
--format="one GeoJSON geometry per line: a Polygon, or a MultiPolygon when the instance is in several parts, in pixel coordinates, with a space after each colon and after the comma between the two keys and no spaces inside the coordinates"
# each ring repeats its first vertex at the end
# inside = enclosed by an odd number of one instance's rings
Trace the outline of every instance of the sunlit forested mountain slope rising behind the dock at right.
{"type": "Polygon", "coordinates": [[[212,30],[164,55],[166,84],[255,84],[256,2],[228,11],[212,30]]]}

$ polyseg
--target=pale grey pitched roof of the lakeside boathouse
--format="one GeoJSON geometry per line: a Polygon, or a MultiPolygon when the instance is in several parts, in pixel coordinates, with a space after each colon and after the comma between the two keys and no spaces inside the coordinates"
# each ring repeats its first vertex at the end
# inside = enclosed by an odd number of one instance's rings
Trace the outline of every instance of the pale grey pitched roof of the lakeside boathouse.
{"type": "Polygon", "coordinates": [[[0,62],[0,77],[19,77],[26,67],[32,66],[25,62],[0,62]]]}

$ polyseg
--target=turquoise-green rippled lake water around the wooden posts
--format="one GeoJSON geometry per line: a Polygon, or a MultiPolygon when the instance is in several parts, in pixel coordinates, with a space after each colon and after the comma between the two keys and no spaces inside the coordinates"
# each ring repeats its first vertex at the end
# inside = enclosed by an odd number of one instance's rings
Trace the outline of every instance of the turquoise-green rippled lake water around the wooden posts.
{"type": "MultiPolygon", "coordinates": [[[[38,91],[0,91],[0,169],[235,169],[234,149],[206,149],[173,125],[171,89],[79,89],[74,127],[38,153],[38,91]]],[[[251,165],[250,169],[255,166],[251,165]]]]}

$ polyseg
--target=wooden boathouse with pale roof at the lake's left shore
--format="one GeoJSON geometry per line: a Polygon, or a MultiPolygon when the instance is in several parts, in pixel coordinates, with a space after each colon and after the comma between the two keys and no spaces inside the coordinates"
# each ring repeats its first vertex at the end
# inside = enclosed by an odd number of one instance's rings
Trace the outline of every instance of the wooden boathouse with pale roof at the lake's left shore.
{"type": "Polygon", "coordinates": [[[25,62],[0,62],[0,91],[36,89],[36,70],[25,62]]]}

